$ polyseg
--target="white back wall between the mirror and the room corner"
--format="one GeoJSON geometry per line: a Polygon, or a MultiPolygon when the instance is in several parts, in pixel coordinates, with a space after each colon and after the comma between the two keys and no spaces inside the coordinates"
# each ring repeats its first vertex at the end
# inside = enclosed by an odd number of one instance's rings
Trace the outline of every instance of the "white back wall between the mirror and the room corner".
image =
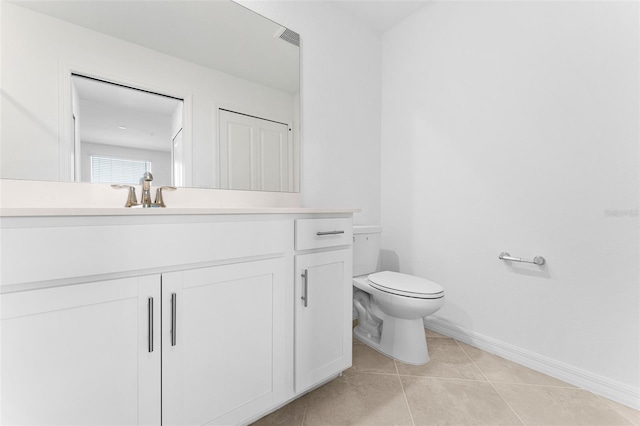
{"type": "Polygon", "coordinates": [[[330,2],[241,1],[301,36],[301,195],[380,223],[380,39],[330,2]]]}

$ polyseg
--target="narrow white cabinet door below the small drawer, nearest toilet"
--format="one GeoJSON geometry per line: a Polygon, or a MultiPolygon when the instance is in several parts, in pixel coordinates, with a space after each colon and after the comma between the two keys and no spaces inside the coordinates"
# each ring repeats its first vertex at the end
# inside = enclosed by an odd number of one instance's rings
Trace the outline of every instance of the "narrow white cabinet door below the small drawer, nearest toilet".
{"type": "Polygon", "coordinates": [[[351,250],[296,256],[295,387],[351,366],[351,250]]]}

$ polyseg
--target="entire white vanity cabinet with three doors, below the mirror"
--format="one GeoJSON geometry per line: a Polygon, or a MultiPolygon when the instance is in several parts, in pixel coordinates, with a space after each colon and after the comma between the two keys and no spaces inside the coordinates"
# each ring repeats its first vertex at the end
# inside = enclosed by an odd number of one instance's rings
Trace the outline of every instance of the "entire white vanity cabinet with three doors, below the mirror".
{"type": "Polygon", "coordinates": [[[352,210],[3,209],[3,424],[247,424],[351,366],[352,210]]]}

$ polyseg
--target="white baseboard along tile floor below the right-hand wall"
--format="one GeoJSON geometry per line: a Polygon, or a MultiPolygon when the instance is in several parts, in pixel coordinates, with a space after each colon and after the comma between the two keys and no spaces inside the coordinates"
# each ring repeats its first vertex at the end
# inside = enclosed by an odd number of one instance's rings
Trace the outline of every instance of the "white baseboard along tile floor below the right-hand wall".
{"type": "Polygon", "coordinates": [[[426,328],[447,337],[452,337],[636,410],[640,409],[640,389],[467,330],[442,318],[427,317],[424,319],[424,324],[426,328]]]}

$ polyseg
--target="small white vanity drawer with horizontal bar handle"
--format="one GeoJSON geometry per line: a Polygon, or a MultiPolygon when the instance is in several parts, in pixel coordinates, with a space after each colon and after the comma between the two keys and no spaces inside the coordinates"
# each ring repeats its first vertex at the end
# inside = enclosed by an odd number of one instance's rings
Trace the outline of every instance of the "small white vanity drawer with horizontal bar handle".
{"type": "Polygon", "coordinates": [[[296,250],[344,246],[352,241],[351,218],[296,220],[296,250]]]}

